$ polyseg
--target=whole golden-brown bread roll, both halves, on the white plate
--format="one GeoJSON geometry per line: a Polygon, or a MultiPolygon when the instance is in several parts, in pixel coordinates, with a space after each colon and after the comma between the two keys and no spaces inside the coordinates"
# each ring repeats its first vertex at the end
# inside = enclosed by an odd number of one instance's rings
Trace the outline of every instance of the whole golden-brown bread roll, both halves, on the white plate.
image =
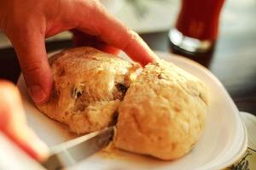
{"type": "Polygon", "coordinates": [[[55,54],[49,64],[52,94],[38,109],[74,133],[114,125],[118,117],[115,147],[163,160],[184,156],[201,137],[207,88],[170,62],[157,59],[137,77],[137,65],[84,47],[55,54]]]}

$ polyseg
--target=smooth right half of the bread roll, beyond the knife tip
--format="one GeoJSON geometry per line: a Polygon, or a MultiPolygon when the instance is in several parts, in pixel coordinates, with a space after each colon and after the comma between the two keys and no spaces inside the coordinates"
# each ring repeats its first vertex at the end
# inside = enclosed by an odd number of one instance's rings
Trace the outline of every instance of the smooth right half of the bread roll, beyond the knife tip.
{"type": "Polygon", "coordinates": [[[200,138],[207,116],[207,88],[176,65],[146,65],[119,106],[115,147],[173,160],[200,138]]]}

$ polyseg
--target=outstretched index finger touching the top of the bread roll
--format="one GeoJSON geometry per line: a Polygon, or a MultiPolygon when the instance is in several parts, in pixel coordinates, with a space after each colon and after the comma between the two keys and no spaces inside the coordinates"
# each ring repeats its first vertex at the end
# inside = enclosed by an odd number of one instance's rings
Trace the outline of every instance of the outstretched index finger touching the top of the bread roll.
{"type": "Polygon", "coordinates": [[[80,5],[77,12],[79,13],[79,19],[75,20],[79,20],[78,29],[80,31],[90,32],[101,37],[104,42],[122,49],[131,59],[142,65],[147,65],[148,62],[158,58],[136,32],[131,31],[119,20],[114,19],[111,14],[108,14],[102,8],[101,4],[80,5]]]}

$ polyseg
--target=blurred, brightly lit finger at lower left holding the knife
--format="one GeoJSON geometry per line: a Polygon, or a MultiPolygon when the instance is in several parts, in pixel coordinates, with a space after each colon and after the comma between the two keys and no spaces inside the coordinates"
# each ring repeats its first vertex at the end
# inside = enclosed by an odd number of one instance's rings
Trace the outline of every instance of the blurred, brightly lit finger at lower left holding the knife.
{"type": "Polygon", "coordinates": [[[10,82],[0,80],[0,94],[0,131],[30,156],[43,161],[48,156],[48,148],[32,129],[27,127],[17,88],[10,82]]]}

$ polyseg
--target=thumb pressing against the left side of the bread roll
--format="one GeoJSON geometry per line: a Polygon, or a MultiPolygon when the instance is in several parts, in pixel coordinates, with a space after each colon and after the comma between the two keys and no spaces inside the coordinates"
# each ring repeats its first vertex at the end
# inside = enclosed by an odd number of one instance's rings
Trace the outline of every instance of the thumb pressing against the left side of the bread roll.
{"type": "Polygon", "coordinates": [[[37,32],[9,37],[18,55],[28,94],[37,104],[49,99],[52,75],[47,59],[44,36],[37,32]]]}

